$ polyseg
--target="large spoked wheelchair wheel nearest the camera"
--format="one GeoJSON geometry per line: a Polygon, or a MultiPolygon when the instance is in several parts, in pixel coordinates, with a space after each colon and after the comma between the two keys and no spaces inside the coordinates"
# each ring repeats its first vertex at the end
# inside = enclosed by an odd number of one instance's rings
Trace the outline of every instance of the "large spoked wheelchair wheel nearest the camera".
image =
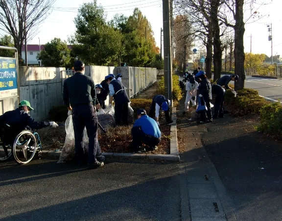
{"type": "Polygon", "coordinates": [[[32,160],[37,151],[36,138],[31,131],[22,131],[16,136],[13,145],[13,157],[16,163],[22,165],[32,160]]]}

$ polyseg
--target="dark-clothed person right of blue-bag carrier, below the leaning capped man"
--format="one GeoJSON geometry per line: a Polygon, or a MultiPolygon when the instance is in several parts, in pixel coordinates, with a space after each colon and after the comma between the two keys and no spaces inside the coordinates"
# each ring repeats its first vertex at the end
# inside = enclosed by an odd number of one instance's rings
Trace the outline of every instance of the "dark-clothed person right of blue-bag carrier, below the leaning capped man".
{"type": "Polygon", "coordinates": [[[211,94],[215,94],[215,101],[214,101],[214,112],[213,112],[213,119],[218,117],[223,117],[223,101],[225,95],[225,89],[222,88],[220,85],[212,85],[211,86],[211,94]]]}

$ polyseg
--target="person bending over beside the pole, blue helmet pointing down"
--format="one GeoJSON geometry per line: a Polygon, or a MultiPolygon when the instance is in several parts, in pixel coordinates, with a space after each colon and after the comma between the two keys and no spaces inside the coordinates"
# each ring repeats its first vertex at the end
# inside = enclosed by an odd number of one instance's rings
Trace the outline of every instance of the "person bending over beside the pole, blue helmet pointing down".
{"type": "Polygon", "coordinates": [[[165,120],[167,124],[172,124],[173,120],[169,117],[170,100],[168,100],[164,95],[155,95],[152,100],[151,108],[149,111],[149,117],[155,118],[158,125],[160,109],[164,110],[165,120]]]}

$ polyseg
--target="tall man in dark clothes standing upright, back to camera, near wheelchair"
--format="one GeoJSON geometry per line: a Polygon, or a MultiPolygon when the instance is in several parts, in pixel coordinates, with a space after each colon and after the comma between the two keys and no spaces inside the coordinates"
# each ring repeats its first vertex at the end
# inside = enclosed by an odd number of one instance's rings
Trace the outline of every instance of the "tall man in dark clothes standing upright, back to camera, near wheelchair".
{"type": "Polygon", "coordinates": [[[84,75],[84,64],[81,61],[74,63],[75,74],[67,78],[63,85],[63,101],[68,107],[68,115],[72,114],[75,158],[78,166],[81,165],[83,151],[83,131],[86,127],[89,137],[88,167],[89,169],[103,166],[105,160],[98,145],[97,129],[98,118],[96,110],[101,108],[93,80],[84,75]]]}

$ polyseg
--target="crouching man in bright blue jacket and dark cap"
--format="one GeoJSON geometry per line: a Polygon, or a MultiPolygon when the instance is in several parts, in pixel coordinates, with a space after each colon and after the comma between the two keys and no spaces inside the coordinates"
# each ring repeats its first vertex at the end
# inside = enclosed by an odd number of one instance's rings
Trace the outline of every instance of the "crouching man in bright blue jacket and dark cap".
{"type": "Polygon", "coordinates": [[[145,152],[142,143],[149,146],[150,149],[156,150],[157,145],[161,142],[161,131],[156,121],[149,117],[146,110],[137,110],[138,120],[135,121],[131,129],[133,152],[145,152]]]}

